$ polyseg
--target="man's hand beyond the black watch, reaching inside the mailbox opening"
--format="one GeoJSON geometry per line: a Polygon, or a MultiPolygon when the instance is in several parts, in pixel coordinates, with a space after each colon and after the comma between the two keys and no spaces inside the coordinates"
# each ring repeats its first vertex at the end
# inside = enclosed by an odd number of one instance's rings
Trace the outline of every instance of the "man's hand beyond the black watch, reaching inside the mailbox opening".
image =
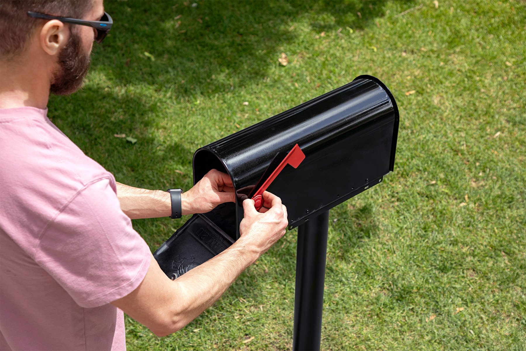
{"type": "Polygon", "coordinates": [[[181,194],[183,215],[207,213],[226,202],[236,202],[234,185],[228,174],[217,169],[212,169],[194,187],[181,194]]]}

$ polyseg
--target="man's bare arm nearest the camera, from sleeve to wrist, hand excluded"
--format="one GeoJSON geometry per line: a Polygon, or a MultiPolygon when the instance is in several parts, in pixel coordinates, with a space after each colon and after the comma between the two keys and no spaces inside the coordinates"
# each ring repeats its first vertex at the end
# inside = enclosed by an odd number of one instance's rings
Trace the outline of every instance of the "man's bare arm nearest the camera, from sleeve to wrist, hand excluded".
{"type": "Polygon", "coordinates": [[[171,281],[150,254],[143,282],[112,304],[157,336],[166,336],[210,307],[259,255],[241,237],[224,252],[171,281]]]}

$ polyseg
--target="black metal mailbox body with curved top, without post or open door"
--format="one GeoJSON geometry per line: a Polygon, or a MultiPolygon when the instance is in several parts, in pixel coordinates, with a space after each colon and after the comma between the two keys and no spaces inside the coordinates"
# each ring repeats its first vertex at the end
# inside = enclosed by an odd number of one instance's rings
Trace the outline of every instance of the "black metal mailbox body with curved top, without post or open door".
{"type": "Polygon", "coordinates": [[[236,206],[221,206],[210,216],[236,239],[242,199],[298,144],[304,162],[296,169],[286,166],[268,188],[287,206],[289,224],[295,227],[381,182],[393,170],[398,123],[389,89],[375,77],[359,76],[199,148],[193,159],[194,183],[212,168],[230,175],[238,194],[236,206]],[[224,218],[234,211],[233,219],[224,218]]]}

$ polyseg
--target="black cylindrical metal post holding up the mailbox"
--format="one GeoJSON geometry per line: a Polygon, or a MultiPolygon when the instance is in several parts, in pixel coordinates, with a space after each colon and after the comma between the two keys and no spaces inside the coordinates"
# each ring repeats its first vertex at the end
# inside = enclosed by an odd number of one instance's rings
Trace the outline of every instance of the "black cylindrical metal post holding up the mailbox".
{"type": "Polygon", "coordinates": [[[329,211],[298,227],[292,350],[319,350],[329,211]]]}

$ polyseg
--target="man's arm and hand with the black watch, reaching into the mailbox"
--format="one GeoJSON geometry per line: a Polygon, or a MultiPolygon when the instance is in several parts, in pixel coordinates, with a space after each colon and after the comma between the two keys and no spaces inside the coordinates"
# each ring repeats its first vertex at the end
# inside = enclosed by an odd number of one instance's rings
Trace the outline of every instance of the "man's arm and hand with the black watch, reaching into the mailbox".
{"type": "MultiPolygon", "coordinates": [[[[131,219],[171,216],[170,194],[163,190],[134,188],[117,183],[120,208],[131,219]]],[[[235,202],[232,180],[226,173],[212,169],[194,187],[181,194],[183,215],[206,213],[217,205],[235,202]]]]}

